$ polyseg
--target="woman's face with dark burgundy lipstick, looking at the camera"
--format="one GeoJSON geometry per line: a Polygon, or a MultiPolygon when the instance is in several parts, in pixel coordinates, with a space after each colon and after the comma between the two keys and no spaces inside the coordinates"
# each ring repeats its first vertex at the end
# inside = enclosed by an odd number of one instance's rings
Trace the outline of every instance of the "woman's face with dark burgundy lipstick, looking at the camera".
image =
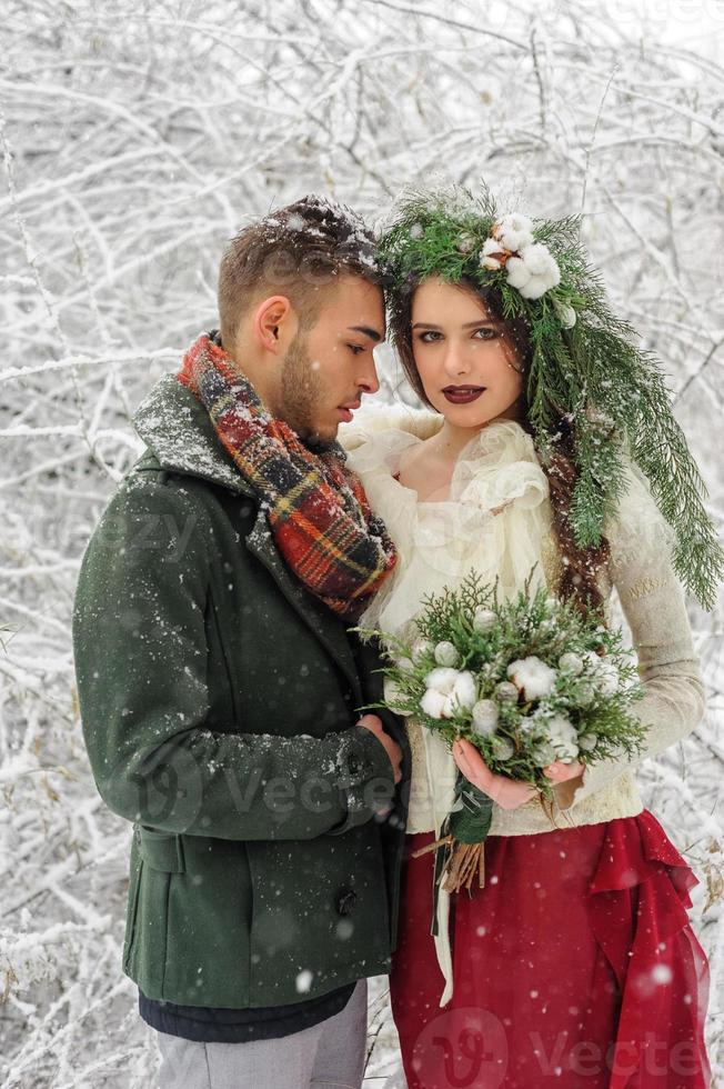
{"type": "Polygon", "coordinates": [[[454,427],[517,418],[521,360],[472,291],[425,280],[412,301],[412,350],[428,400],[454,427]]]}

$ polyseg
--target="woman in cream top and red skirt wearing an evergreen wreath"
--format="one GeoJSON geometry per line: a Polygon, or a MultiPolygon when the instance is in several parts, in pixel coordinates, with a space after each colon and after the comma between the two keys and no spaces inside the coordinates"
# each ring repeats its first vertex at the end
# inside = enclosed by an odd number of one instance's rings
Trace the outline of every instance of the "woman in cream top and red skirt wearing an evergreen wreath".
{"type": "MultiPolygon", "coordinates": [[[[473,568],[506,597],[533,571],[581,609],[615,587],[645,686],[643,759],[703,713],[674,563],[708,601],[722,553],[658,373],[575,226],[456,193],[406,198],[384,234],[392,338],[433,411],[361,413],[340,437],[399,555],[360,623],[409,636],[424,597],[473,568]]],[[[406,725],[391,999],[410,1089],[707,1086],[708,968],[685,910],[697,882],[643,808],[635,761],[553,762],[551,817],[470,742],[450,752],[406,725]],[[457,773],[495,803],[485,883],[439,890],[435,913],[431,845],[457,773]]]]}

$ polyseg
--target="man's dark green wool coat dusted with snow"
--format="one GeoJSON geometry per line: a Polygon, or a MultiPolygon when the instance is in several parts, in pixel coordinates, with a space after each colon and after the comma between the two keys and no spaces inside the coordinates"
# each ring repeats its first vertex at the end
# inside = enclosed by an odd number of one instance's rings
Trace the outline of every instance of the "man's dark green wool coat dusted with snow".
{"type": "Polygon", "coordinates": [[[410,760],[382,713],[404,751],[395,789],[355,726],[379,658],[285,567],[174,376],[134,423],[148,449],[90,540],[73,613],[93,777],[134,825],[123,971],[150,998],[224,1008],[384,973],[410,760]]]}

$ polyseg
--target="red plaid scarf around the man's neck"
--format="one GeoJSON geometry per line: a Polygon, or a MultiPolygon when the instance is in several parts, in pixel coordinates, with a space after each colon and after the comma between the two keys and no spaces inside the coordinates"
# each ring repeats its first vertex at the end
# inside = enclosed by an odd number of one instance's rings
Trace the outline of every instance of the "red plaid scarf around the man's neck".
{"type": "Polygon", "coordinates": [[[207,408],[220,441],[267,509],[276,548],[334,612],[356,619],[396,552],[338,442],[314,451],[265,410],[231,357],[201,336],[178,379],[207,408]]]}

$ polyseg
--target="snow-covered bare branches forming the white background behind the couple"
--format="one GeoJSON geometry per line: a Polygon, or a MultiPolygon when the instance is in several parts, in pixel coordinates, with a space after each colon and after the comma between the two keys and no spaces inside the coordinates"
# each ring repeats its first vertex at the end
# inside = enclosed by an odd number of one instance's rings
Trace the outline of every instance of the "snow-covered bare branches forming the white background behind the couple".
{"type": "MultiPolygon", "coordinates": [[[[130,826],[94,789],[70,617],[131,413],[214,323],[224,241],[309,191],[374,218],[440,171],[583,212],[720,519],[723,34],[720,0],[2,0],[0,1089],[153,1082],[120,968],[130,826]]],[[[640,781],[701,880],[721,1078],[722,610],[691,619],[708,717],[640,781]]],[[[370,1012],[368,1089],[396,1069],[384,979],[370,1012]]]]}

